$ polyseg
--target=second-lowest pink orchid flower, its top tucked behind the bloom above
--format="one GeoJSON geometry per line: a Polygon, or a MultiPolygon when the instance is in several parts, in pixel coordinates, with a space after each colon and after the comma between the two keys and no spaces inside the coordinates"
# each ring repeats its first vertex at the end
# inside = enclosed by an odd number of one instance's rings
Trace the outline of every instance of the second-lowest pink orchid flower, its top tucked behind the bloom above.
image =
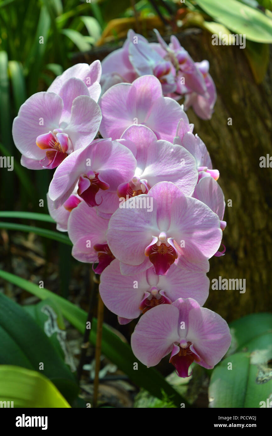
{"type": "Polygon", "coordinates": [[[119,261],[111,262],[101,274],[99,286],[107,308],[119,317],[131,320],[152,307],[171,304],[178,298],[192,297],[200,306],[207,300],[210,280],[204,272],[187,271],[172,265],[166,276],[157,276],[153,269],[123,276],[119,261]]]}

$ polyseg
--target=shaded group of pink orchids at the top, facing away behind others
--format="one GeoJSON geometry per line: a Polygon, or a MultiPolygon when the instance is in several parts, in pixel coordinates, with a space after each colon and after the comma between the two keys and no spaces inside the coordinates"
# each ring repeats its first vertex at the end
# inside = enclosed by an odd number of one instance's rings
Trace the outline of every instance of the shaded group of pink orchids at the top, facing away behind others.
{"type": "Polygon", "coordinates": [[[184,97],[185,110],[192,106],[197,116],[210,119],[217,95],[209,62],[194,62],[176,36],[172,35],[167,45],[157,30],[155,33],[158,43],[149,43],[142,35],[128,31],[123,47],[102,61],[102,92],[150,74],[161,82],[165,97],[184,97]]]}

